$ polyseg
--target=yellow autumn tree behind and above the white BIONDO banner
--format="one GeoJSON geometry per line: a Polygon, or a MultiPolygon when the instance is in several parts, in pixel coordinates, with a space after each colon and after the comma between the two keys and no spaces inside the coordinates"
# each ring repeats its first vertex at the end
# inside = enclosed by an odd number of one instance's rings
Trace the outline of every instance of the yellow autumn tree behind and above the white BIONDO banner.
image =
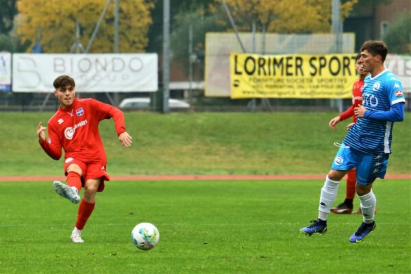
{"type": "MultiPolygon", "coordinates": [[[[105,14],[90,53],[114,51],[114,1],[105,14]]],[[[17,34],[29,41],[32,48],[39,34],[45,52],[69,52],[75,42],[75,22],[81,27],[81,42],[86,48],[99,21],[106,1],[95,0],[20,0],[17,34]]],[[[151,25],[149,0],[119,1],[119,51],[142,52],[147,46],[147,32],[151,25]]]]}

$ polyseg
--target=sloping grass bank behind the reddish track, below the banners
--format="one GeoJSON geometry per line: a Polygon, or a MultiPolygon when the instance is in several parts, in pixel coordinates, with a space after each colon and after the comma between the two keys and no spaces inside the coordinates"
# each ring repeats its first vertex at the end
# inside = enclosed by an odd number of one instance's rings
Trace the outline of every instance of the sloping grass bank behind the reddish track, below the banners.
{"type": "MultiPolygon", "coordinates": [[[[2,112],[0,176],[62,175],[37,143],[39,121],[51,112],[2,112]]],[[[336,113],[129,112],[132,147],[123,149],[114,123],[100,123],[110,175],[134,174],[326,174],[349,121],[332,130],[336,113]]],[[[411,119],[395,123],[388,173],[411,173],[411,119]]]]}

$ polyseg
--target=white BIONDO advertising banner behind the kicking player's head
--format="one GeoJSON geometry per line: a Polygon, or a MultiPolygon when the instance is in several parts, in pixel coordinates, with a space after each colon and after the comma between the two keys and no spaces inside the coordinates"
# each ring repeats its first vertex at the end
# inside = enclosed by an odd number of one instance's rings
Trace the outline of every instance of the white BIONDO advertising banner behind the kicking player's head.
{"type": "Polygon", "coordinates": [[[158,55],[13,54],[14,92],[51,92],[60,75],[73,77],[77,92],[153,92],[158,90],[158,55]]]}

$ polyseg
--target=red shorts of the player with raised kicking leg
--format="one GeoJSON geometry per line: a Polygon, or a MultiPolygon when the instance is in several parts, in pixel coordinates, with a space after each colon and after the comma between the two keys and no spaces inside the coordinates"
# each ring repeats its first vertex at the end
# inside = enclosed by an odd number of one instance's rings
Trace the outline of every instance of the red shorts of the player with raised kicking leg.
{"type": "Polygon", "coordinates": [[[104,190],[104,181],[110,181],[110,176],[105,172],[106,166],[98,163],[85,163],[80,160],[76,160],[74,158],[67,158],[64,161],[64,175],[67,176],[67,168],[71,164],[77,164],[80,169],[82,169],[82,186],[84,187],[84,182],[88,179],[99,179],[101,178],[101,183],[99,188],[97,189],[98,192],[104,190]]]}

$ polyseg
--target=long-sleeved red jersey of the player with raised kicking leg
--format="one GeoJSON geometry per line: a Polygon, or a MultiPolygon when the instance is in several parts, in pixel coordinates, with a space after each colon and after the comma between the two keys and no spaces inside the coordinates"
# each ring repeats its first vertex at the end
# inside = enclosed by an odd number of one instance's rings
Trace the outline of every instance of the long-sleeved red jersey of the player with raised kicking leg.
{"type": "Polygon", "coordinates": [[[99,134],[99,122],[113,117],[117,135],[125,132],[124,115],[112,105],[95,99],[74,99],[73,104],[60,107],[48,123],[49,140],[41,147],[54,160],[64,158],[82,162],[107,164],[107,158],[99,134]]]}

